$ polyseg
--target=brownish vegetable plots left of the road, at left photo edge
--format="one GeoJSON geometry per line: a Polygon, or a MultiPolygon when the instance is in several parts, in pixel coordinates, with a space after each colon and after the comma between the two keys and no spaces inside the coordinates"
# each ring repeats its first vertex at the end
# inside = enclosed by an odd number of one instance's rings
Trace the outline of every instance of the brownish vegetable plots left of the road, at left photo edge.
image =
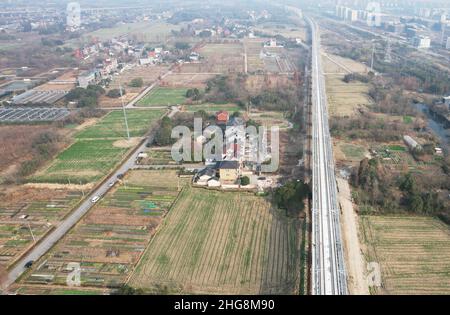
{"type": "Polygon", "coordinates": [[[0,200],[0,266],[10,266],[81,200],[76,190],[19,186],[0,200]],[[25,219],[26,218],[26,219],[25,219]]]}

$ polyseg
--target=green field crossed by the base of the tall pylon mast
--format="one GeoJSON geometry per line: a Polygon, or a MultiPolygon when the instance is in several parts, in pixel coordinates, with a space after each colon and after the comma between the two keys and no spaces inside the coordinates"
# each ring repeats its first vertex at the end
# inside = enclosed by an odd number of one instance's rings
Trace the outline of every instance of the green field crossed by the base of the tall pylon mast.
{"type": "MultiPolygon", "coordinates": [[[[150,126],[163,115],[162,110],[126,110],[131,137],[143,136],[150,126]]],[[[126,138],[125,119],[122,110],[115,110],[95,125],[81,131],[78,139],[126,138]]]]}

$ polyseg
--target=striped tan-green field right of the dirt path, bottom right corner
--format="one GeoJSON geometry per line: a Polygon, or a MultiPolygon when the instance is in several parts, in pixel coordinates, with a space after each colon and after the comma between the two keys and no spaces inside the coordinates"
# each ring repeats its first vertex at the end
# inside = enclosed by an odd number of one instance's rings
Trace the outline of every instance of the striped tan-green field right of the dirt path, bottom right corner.
{"type": "Polygon", "coordinates": [[[450,230],[430,217],[361,217],[368,262],[381,267],[372,294],[450,294],[450,230]]]}

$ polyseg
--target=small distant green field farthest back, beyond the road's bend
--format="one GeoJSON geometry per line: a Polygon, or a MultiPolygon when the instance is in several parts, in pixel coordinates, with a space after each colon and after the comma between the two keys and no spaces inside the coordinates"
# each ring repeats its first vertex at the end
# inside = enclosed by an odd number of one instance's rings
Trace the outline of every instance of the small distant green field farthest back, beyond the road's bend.
{"type": "Polygon", "coordinates": [[[183,104],[186,102],[186,91],[184,88],[158,87],[141,98],[138,106],[168,106],[183,104]]]}

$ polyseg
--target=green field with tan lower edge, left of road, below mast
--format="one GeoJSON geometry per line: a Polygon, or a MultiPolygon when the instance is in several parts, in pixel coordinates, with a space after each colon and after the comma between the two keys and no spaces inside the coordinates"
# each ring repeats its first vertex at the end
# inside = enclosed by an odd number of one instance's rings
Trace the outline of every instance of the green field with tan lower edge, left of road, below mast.
{"type": "Polygon", "coordinates": [[[114,140],[77,140],[61,152],[50,166],[32,177],[33,182],[93,182],[103,177],[119,162],[126,148],[113,145],[114,140]]]}

